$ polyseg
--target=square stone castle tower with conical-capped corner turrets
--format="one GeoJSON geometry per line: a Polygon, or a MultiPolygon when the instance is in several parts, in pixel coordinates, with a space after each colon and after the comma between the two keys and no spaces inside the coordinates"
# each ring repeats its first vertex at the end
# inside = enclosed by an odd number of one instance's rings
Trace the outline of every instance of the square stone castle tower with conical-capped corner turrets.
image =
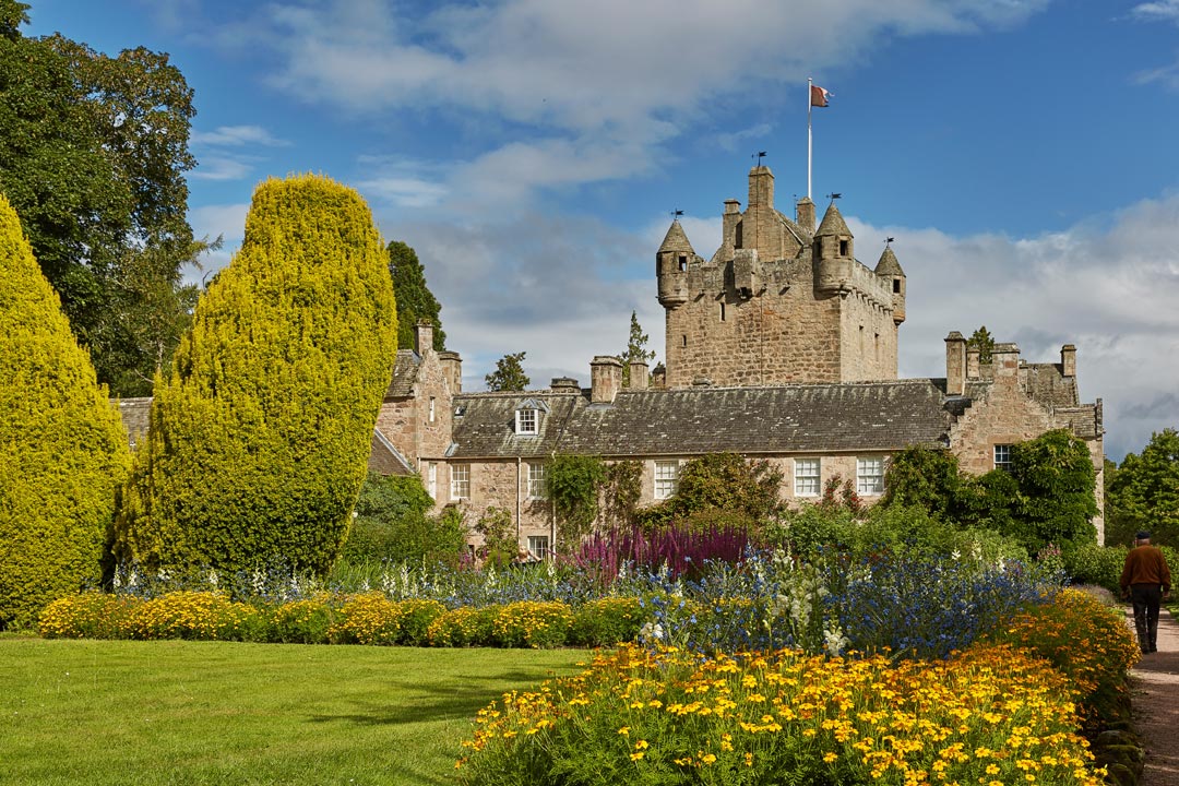
{"type": "Polygon", "coordinates": [[[673,220],[656,253],[666,310],[666,384],[686,388],[896,379],[904,271],[885,246],[875,270],[832,200],[791,220],[773,207],[773,173],[749,173],[749,206],[729,199],[712,258],[673,220]]]}

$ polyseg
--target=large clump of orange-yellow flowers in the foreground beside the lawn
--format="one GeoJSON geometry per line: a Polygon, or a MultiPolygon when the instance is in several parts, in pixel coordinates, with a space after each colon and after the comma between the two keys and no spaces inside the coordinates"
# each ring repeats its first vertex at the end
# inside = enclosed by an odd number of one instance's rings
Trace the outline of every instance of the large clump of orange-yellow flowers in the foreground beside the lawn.
{"type": "Polygon", "coordinates": [[[624,648],[481,711],[459,780],[1098,786],[1072,696],[1001,646],[896,665],[624,648]]]}

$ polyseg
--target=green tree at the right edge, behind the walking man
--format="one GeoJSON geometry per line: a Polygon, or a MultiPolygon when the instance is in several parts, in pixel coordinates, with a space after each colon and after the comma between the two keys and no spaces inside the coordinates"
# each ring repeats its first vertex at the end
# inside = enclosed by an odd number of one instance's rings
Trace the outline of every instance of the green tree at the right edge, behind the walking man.
{"type": "Polygon", "coordinates": [[[1107,543],[1145,529],[1154,543],[1179,546],[1179,432],[1157,431],[1142,453],[1126,454],[1108,473],[1106,494],[1107,543]]]}

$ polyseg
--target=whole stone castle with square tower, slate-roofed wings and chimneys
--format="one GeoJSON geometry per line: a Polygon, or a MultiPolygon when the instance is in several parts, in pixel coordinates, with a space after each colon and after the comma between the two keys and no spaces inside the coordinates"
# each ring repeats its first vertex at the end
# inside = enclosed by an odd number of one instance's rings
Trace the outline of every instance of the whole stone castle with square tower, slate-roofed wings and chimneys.
{"type": "MultiPolygon", "coordinates": [[[[756,166],[746,209],[724,203],[707,260],[673,220],[656,252],[666,370],[652,378],[632,363],[625,387],[623,362],[598,356],[588,388],[562,377],[545,390],[465,394],[459,355],[435,351],[432,326],[417,325],[416,351],[397,354],[370,468],[420,474],[439,507],[460,506],[469,522],[508,510],[521,549],[544,557],[560,543],[546,482],[558,454],[639,462],[640,504],[674,495],[680,465],[717,451],[769,460],[791,502],[817,500],[836,475],[870,502],[889,456],[910,445],[948,448],[981,474],[1008,463],[1012,444],[1063,428],[1089,448],[1101,510],[1101,401],[1080,402],[1075,346],[1059,363],[1027,363],[1015,344],[995,344],[981,363],[953,331],[944,377],[898,379],[896,255],[885,246],[875,269],[857,260],[834,200],[815,218],[805,198],[793,219],[778,212],[773,174],[756,166]]],[[[132,438],[145,402],[120,402],[132,438]]]]}

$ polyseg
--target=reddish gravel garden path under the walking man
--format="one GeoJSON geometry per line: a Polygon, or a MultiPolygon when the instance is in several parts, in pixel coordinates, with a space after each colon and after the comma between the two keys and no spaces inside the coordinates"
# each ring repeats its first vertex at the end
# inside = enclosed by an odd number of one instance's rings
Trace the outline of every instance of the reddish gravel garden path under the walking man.
{"type": "MultiPolygon", "coordinates": [[[[1128,607],[1127,615],[1133,626],[1128,607]]],[[[1158,645],[1131,672],[1134,727],[1146,745],[1139,786],[1179,786],[1179,622],[1165,608],[1158,645]]]]}

